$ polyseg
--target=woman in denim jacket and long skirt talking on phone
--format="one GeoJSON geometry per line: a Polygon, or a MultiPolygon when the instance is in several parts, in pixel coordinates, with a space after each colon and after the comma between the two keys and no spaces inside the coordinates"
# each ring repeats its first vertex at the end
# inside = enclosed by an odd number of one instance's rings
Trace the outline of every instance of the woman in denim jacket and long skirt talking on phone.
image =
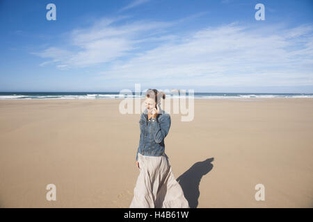
{"type": "Polygon", "coordinates": [[[157,89],[146,92],[146,109],[139,121],[141,136],[136,154],[136,166],[140,173],[130,208],[189,207],[164,152],[164,138],[170,130],[170,114],[161,110],[161,98],[165,99],[166,95],[157,89]]]}

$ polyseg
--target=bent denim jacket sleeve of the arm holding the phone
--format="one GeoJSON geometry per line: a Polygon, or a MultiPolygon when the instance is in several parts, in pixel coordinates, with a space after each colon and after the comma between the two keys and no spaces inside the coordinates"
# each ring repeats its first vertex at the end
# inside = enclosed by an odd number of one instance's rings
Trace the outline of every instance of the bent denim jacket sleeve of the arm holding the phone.
{"type": "Polygon", "coordinates": [[[168,135],[170,130],[170,114],[163,114],[164,116],[160,119],[154,119],[152,121],[152,127],[154,128],[154,141],[158,144],[168,135]]]}

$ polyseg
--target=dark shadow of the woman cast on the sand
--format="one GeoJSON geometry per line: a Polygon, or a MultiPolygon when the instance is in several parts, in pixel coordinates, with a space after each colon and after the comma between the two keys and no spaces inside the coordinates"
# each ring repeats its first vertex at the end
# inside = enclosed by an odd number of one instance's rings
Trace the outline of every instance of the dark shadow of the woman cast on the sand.
{"type": "Polygon", "coordinates": [[[198,207],[198,198],[200,196],[199,185],[202,176],[206,175],[213,168],[214,157],[211,157],[202,162],[196,162],[193,166],[183,173],[177,182],[181,185],[184,196],[188,200],[189,206],[191,208],[198,207]]]}

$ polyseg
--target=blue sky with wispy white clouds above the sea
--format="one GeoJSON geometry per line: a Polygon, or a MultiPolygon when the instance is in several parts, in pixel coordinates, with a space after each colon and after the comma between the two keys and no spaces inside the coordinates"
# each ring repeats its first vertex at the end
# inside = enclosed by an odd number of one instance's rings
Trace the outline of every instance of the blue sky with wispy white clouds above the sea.
{"type": "Polygon", "coordinates": [[[0,91],[312,93],[312,11],[311,0],[1,0],[0,91]]]}

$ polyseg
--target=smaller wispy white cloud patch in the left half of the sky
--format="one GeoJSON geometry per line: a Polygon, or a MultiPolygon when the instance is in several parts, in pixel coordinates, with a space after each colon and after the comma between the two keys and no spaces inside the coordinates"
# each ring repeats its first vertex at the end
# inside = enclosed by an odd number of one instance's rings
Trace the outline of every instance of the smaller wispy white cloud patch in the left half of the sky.
{"type": "Polygon", "coordinates": [[[145,41],[167,40],[164,36],[153,36],[172,26],[169,22],[145,21],[114,26],[118,20],[120,19],[101,19],[90,28],[71,31],[67,36],[67,46],[52,46],[45,51],[32,53],[51,59],[41,65],[56,63],[61,69],[89,67],[128,56],[131,51],[138,49],[138,44],[145,41]],[[141,39],[138,39],[138,36],[141,36],[141,39]]]}

